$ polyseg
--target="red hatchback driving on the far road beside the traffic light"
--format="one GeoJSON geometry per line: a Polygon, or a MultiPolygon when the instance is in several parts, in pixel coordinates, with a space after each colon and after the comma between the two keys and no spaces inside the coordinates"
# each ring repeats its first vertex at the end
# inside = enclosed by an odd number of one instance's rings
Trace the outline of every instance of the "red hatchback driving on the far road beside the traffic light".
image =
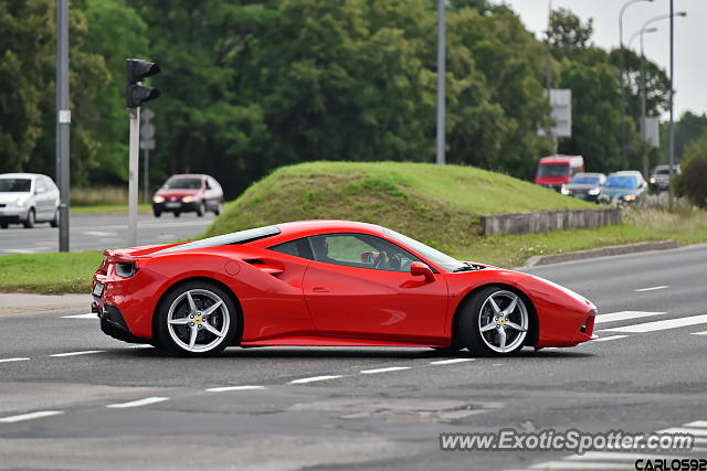
{"type": "Polygon", "coordinates": [[[152,196],[155,217],[165,212],[173,213],[175,217],[189,212],[203,216],[207,211],[217,215],[223,211],[223,190],[209,175],[172,175],[152,196]]]}

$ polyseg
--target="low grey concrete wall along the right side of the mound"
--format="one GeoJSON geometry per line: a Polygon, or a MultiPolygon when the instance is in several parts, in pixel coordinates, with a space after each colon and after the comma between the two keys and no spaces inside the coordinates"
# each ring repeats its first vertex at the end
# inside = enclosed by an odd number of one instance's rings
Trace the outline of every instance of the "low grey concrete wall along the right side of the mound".
{"type": "Polygon", "coordinates": [[[482,234],[532,234],[621,224],[619,207],[492,214],[481,217],[482,234]]]}

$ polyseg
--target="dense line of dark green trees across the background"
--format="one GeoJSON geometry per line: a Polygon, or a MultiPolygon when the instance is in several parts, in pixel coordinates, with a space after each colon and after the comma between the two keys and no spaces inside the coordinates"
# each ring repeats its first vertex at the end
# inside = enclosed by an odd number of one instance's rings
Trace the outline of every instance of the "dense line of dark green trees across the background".
{"type": "MultiPolygon", "coordinates": [[[[54,174],[54,0],[0,0],[0,171],[54,174]]],[[[150,79],[152,183],[208,172],[235,195],[305,160],[432,161],[435,0],[72,0],[72,180],[127,176],[125,58],[162,65],[150,79]]],[[[639,137],[640,57],[591,42],[591,22],[557,10],[536,39],[507,7],[451,2],[450,162],[530,178],[555,150],[546,82],[572,88],[573,136],[557,148],[588,170],[659,159],[639,137]],[[548,57],[548,51],[550,56],[548,57]],[[549,69],[547,69],[549,61],[549,69]]],[[[648,62],[648,114],[667,78],[648,62]]]]}

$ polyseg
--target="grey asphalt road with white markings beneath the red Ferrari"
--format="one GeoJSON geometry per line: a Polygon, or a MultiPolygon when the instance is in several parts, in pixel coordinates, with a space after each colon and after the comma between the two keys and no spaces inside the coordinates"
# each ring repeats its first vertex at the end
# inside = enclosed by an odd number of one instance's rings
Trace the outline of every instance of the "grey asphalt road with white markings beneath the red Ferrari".
{"type": "Polygon", "coordinates": [[[193,360],[64,318],[87,310],[2,315],[0,469],[616,470],[650,456],[440,450],[441,432],[502,428],[683,428],[698,449],[673,454],[707,458],[707,246],[529,271],[592,299],[601,341],[506,358],[263,347],[193,360]]]}

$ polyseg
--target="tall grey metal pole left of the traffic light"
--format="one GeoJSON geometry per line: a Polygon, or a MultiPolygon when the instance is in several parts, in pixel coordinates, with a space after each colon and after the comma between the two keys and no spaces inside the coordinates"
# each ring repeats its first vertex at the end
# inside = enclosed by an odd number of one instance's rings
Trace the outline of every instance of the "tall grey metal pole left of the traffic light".
{"type": "Polygon", "coordinates": [[[68,0],[56,0],[56,160],[59,174],[59,250],[68,251],[70,161],[68,137],[68,0]]]}

